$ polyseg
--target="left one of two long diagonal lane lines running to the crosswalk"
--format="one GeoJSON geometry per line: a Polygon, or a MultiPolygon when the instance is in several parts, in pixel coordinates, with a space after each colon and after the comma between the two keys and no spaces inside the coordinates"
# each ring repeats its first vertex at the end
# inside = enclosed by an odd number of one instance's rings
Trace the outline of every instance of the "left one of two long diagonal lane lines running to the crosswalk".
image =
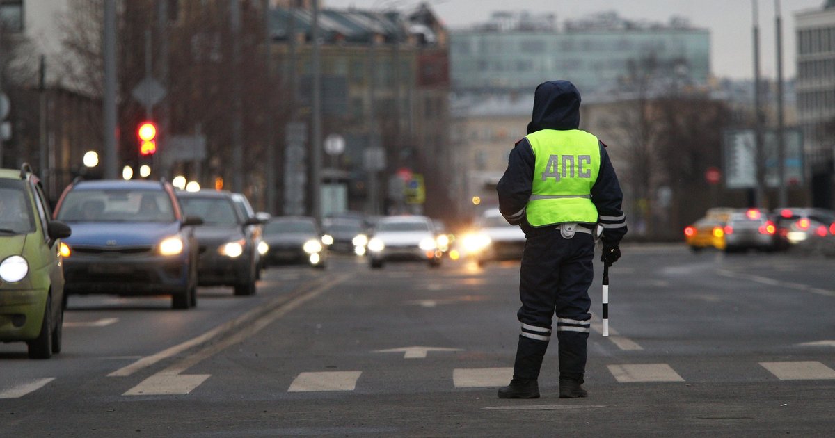
{"type": "MultiPolygon", "coordinates": [[[[321,286],[320,288],[315,289],[311,293],[308,293],[306,295],[302,295],[300,298],[298,298],[294,301],[291,301],[291,303],[278,307],[278,309],[281,310],[281,309],[285,308],[286,306],[290,306],[290,308],[288,308],[287,310],[294,309],[297,305],[300,305],[304,301],[309,300],[310,298],[313,298],[314,296],[321,294],[321,292],[323,292],[325,289],[330,288],[334,284],[337,284],[337,283],[343,281],[346,278],[347,278],[346,275],[342,275],[340,277],[337,277],[337,279],[331,280],[331,282],[325,284],[324,286],[321,286]],[[313,294],[316,291],[318,291],[318,292],[315,295],[310,296],[311,294],[313,294]],[[293,304],[295,301],[300,300],[301,298],[305,298],[305,297],[308,297],[308,298],[306,298],[305,300],[302,300],[299,303],[296,303],[295,305],[293,304]]],[[[136,360],[134,363],[132,363],[130,365],[119,368],[119,370],[115,370],[114,372],[110,373],[108,376],[109,377],[123,377],[123,376],[132,375],[138,370],[142,370],[143,368],[149,367],[150,365],[154,365],[155,363],[159,362],[159,360],[164,360],[164,359],[169,358],[173,355],[177,355],[182,351],[189,350],[191,347],[194,347],[195,345],[203,344],[206,341],[211,340],[211,339],[213,339],[213,338],[215,338],[219,335],[224,335],[227,332],[235,330],[240,325],[246,324],[248,322],[248,320],[251,320],[255,315],[263,313],[263,309],[265,307],[271,307],[271,306],[274,306],[274,305],[278,305],[278,303],[281,303],[281,301],[283,301],[283,300],[284,300],[284,297],[278,297],[275,300],[271,300],[266,305],[261,305],[256,309],[253,309],[253,310],[250,310],[249,312],[246,312],[244,315],[240,315],[239,317],[235,318],[235,320],[230,320],[230,321],[225,322],[225,324],[218,325],[214,329],[205,332],[203,335],[200,335],[200,336],[197,336],[197,337],[192,338],[190,340],[187,340],[187,341],[185,341],[181,344],[174,345],[174,346],[172,346],[168,349],[162,350],[159,353],[156,353],[154,355],[145,356],[142,359],[136,360]]],[[[275,312],[276,310],[272,310],[272,311],[275,312]]],[[[281,317],[282,315],[284,315],[284,314],[282,313],[281,315],[276,316],[276,318],[281,317]]]]}

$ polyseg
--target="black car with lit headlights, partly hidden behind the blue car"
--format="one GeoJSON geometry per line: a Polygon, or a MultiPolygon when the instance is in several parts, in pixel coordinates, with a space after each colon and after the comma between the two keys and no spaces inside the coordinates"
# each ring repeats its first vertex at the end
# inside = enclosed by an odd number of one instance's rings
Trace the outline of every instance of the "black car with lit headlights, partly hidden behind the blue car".
{"type": "Polygon", "coordinates": [[[232,286],[235,295],[254,295],[258,251],[252,233],[256,218],[247,218],[233,194],[221,190],[177,192],[185,214],[203,219],[196,230],[200,245],[198,273],[201,286],[232,286]]]}

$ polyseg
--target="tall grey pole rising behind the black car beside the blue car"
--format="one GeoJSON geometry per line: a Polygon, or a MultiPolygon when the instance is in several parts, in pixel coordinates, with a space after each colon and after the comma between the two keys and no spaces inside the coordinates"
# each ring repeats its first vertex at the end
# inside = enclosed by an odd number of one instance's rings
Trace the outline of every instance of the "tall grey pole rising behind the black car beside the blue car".
{"type": "Polygon", "coordinates": [[[232,191],[244,191],[243,105],[240,101],[240,0],[230,0],[232,28],[232,191]]]}

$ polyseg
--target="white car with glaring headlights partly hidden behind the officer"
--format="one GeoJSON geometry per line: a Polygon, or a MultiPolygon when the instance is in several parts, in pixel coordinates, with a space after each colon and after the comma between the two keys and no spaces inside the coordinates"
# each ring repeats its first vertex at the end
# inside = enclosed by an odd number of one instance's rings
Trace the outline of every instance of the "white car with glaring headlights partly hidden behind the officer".
{"type": "Polygon", "coordinates": [[[463,236],[462,244],[465,254],[479,266],[488,261],[522,260],[524,232],[518,225],[508,224],[498,209],[485,211],[475,226],[473,233],[463,236]]]}

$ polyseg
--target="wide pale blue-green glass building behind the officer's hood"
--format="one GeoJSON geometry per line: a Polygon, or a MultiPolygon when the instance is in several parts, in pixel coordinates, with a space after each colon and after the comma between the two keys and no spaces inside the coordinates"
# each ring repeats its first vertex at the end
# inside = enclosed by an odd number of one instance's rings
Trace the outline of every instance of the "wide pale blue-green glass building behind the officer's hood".
{"type": "Polygon", "coordinates": [[[556,78],[572,81],[581,93],[605,93],[650,70],[705,86],[710,50],[710,33],[694,28],[464,30],[451,33],[449,58],[457,93],[529,93],[556,78]]]}

